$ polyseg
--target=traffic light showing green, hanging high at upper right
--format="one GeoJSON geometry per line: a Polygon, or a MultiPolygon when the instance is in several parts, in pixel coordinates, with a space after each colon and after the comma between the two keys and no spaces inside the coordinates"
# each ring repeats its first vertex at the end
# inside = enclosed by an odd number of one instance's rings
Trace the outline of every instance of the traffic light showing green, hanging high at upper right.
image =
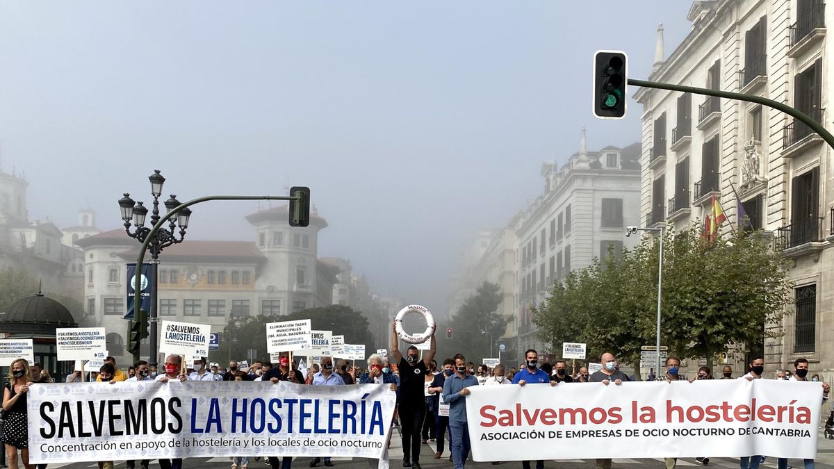
{"type": "Polygon", "coordinates": [[[594,114],[600,119],[625,116],[627,58],[621,51],[600,50],[594,54],[594,114]]]}

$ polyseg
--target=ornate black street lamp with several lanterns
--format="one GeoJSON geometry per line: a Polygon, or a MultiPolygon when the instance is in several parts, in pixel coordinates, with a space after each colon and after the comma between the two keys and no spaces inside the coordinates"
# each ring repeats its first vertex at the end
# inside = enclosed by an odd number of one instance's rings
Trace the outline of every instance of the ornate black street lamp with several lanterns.
{"type": "MultiPolygon", "coordinates": [[[[151,211],[151,223],[150,225],[153,226],[157,224],[159,219],[159,196],[162,195],[162,186],[165,183],[165,178],[162,174],[159,174],[159,170],[155,169],[153,174],[148,176],[148,180],[151,183],[151,195],[153,196],[153,210],[151,211]]],[[[171,195],[171,198],[166,200],[164,203],[165,208],[168,209],[168,212],[175,209],[179,205],[179,201],[177,200],[176,195],[171,195]]],[[[122,212],[122,219],[124,221],[124,230],[127,232],[128,236],[131,238],[135,238],[140,243],[144,243],[144,241],[148,238],[148,234],[150,233],[151,229],[145,226],[145,219],[148,215],[148,209],[143,205],[143,202],[136,202],[133,205],[133,199],[130,198],[130,194],[125,193],[122,199],[118,201],[119,209],[122,212]],[[133,232],[130,230],[130,225],[133,224],[135,229],[133,232]]],[[[153,233],[153,238],[150,241],[150,245],[148,245],[148,250],[151,252],[151,265],[153,269],[153,284],[151,285],[151,310],[149,311],[148,322],[150,323],[150,365],[156,366],[157,365],[157,358],[158,358],[158,271],[159,271],[159,253],[162,252],[163,249],[167,248],[170,245],[176,245],[178,243],[182,243],[185,239],[185,229],[188,228],[188,219],[191,217],[191,210],[188,207],[179,210],[177,213],[177,219],[169,220],[168,228],[160,228],[158,231],[153,233]],[[179,237],[177,237],[177,228],[179,228],[179,237]]],[[[141,274],[142,266],[137,265],[138,273],[141,274]]],[[[138,305],[140,304],[140,296],[139,292],[136,292],[136,297],[134,298],[133,302],[133,310],[134,310],[134,317],[135,311],[138,310],[138,305]]]]}

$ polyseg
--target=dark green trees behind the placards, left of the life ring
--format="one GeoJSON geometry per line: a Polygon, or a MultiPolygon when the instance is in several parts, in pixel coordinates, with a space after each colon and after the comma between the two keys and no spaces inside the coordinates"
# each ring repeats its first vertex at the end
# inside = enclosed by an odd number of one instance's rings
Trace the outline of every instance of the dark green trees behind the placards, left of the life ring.
{"type": "Polygon", "coordinates": [[[334,335],[344,335],[344,342],[347,344],[364,344],[365,356],[376,350],[368,320],[361,312],[354,311],[349,306],[329,305],[301,310],[286,316],[257,315],[233,318],[223,330],[219,350],[211,352],[209,358],[221,364],[229,358],[245,360],[249,356],[249,349],[254,349],[258,359],[269,360],[266,350],[266,324],[302,319],[309,319],[313,330],[332,330],[334,335]]]}

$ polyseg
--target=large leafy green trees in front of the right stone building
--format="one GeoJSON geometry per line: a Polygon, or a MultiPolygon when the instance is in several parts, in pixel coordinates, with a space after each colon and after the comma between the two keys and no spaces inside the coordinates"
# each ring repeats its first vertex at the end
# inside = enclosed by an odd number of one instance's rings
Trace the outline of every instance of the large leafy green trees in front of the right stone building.
{"type": "MultiPolygon", "coordinates": [[[[656,342],[659,245],[646,236],[620,259],[594,260],[554,285],[534,311],[542,340],[553,350],[585,342],[589,358],[611,351],[637,365],[641,346],[656,342]]],[[[661,342],[670,355],[712,362],[730,347],[760,343],[763,325],[780,320],[790,300],[786,265],[770,238],[738,231],[709,242],[695,227],[666,231],[661,342]]]]}

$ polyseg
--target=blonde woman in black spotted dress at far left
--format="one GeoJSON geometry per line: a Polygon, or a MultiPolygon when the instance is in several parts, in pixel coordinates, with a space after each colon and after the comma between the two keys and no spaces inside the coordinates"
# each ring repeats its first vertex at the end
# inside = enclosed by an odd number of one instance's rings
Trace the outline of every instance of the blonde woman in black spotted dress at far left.
{"type": "Polygon", "coordinates": [[[10,469],[18,469],[18,451],[23,458],[23,466],[32,469],[29,464],[29,436],[26,417],[26,393],[32,386],[32,371],[28,361],[15,360],[9,366],[9,383],[3,390],[3,411],[6,413],[6,425],[3,426],[3,443],[10,469]]]}

